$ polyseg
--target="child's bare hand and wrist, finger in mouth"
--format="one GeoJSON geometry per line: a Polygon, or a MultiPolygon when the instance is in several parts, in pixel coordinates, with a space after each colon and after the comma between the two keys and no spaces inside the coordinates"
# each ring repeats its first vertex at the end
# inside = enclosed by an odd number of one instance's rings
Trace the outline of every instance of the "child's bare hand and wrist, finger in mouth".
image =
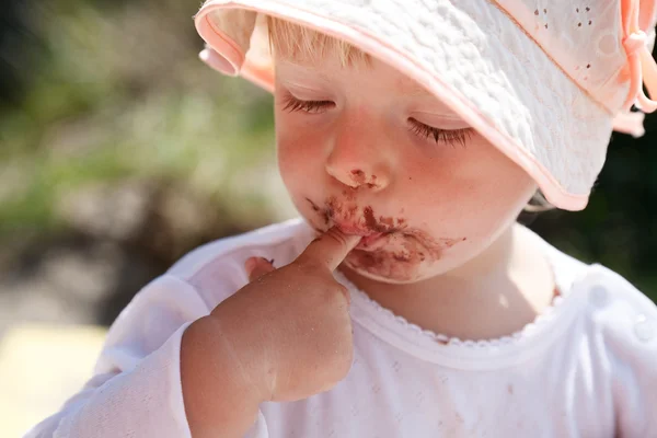
{"type": "Polygon", "coordinates": [[[251,283],[189,327],[181,367],[194,438],[242,437],[261,402],[306,399],[347,374],[349,298],[332,272],[359,240],[332,230],[280,269],[247,263],[251,283]]]}

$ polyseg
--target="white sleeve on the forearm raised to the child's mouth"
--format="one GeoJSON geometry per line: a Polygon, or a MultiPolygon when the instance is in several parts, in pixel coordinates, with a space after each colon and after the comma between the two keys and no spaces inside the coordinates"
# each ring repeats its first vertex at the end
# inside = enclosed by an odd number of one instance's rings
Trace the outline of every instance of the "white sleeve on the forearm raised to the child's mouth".
{"type": "Polygon", "coordinates": [[[116,319],[94,376],[26,438],[191,438],[180,371],[187,326],[211,309],[187,283],[164,275],[116,319]]]}

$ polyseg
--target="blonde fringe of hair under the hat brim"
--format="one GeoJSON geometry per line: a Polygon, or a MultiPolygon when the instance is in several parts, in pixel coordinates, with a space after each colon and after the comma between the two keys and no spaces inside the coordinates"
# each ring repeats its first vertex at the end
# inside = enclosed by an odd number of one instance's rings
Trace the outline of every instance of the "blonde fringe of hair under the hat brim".
{"type": "Polygon", "coordinates": [[[367,65],[369,55],[342,39],[289,21],[267,16],[269,49],[290,59],[319,60],[335,56],[343,67],[367,65]]]}

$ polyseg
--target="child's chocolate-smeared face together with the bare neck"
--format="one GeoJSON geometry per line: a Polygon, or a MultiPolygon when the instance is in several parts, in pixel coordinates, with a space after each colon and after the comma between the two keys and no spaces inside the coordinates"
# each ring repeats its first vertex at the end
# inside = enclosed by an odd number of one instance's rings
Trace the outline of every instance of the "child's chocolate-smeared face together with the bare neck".
{"type": "Polygon", "coordinates": [[[278,54],[276,66],[284,183],[315,230],[364,237],[341,266],[353,283],[468,338],[509,334],[550,304],[550,267],[515,222],[537,189],[525,171],[377,59],[278,54]]]}

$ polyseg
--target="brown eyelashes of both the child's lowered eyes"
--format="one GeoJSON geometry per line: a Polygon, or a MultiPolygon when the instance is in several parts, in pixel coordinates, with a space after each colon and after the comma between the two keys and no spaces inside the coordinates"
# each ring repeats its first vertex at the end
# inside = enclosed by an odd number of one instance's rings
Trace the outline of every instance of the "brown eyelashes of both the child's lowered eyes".
{"type": "MultiPolygon", "coordinates": [[[[302,111],[309,114],[318,114],[322,110],[327,110],[335,104],[331,101],[301,101],[290,94],[284,97],[283,110],[289,113],[302,111]]],[[[438,129],[417,122],[415,118],[408,118],[411,131],[426,139],[434,138],[437,143],[447,143],[450,146],[462,146],[472,136],[472,128],[463,129],[438,129]]]]}

